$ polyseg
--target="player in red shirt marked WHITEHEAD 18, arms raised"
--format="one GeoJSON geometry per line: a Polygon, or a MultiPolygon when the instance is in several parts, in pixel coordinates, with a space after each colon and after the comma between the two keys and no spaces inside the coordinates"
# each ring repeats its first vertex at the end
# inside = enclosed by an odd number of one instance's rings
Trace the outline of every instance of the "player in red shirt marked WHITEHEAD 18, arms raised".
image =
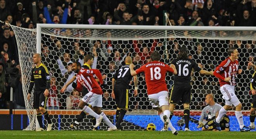
{"type": "Polygon", "coordinates": [[[168,130],[168,127],[170,127],[173,134],[177,135],[178,132],[173,127],[169,119],[170,111],[168,110],[168,89],[165,82],[166,72],[177,74],[177,71],[173,64],[169,67],[165,63],[160,62],[160,58],[161,56],[159,52],[154,51],[150,56],[151,62],[146,63],[137,70],[134,70],[133,68],[135,66],[131,64],[130,72],[131,76],[144,72],[150,104],[158,111],[158,113],[160,113],[161,120],[164,122],[164,129],[168,130]]]}

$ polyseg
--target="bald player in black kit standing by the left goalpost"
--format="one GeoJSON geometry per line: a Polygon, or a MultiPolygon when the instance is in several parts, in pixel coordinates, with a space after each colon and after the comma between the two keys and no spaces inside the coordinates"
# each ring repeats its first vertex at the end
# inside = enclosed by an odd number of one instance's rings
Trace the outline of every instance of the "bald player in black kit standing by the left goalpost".
{"type": "Polygon", "coordinates": [[[45,109],[47,96],[50,89],[50,75],[47,67],[41,63],[42,57],[40,54],[36,53],[33,55],[33,63],[36,67],[32,69],[31,79],[28,90],[28,100],[31,97],[31,91],[34,87],[34,103],[33,106],[36,109],[36,118],[40,125],[40,129],[36,131],[43,131],[42,113],[47,120],[48,126],[47,131],[52,130],[52,121],[49,118],[48,112],[45,109]]]}

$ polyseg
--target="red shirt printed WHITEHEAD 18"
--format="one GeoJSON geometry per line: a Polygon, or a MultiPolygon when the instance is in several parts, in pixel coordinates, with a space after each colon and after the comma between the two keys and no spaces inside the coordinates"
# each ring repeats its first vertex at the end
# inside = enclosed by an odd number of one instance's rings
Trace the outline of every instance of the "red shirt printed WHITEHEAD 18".
{"type": "Polygon", "coordinates": [[[161,91],[168,91],[165,74],[166,72],[173,73],[174,70],[163,62],[153,61],[136,70],[137,74],[141,72],[145,74],[147,94],[156,94],[161,91]]]}

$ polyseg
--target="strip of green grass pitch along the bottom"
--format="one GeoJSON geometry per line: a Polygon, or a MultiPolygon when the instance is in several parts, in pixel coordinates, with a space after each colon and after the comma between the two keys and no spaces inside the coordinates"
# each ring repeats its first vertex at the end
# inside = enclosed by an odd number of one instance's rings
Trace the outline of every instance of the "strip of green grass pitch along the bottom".
{"type": "Polygon", "coordinates": [[[0,139],[251,139],[256,132],[178,131],[20,131],[2,130],[0,139]]]}

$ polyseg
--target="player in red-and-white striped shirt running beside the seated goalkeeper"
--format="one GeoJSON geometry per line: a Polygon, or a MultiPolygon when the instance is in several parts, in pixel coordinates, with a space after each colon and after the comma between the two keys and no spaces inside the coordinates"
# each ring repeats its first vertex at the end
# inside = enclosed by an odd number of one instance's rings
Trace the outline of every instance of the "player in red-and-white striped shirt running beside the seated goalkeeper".
{"type": "Polygon", "coordinates": [[[214,76],[219,79],[220,91],[223,94],[222,98],[225,100],[225,106],[220,109],[218,117],[214,120],[218,130],[220,128],[220,120],[227,113],[228,110],[232,109],[232,104],[235,106],[235,117],[237,117],[240,131],[249,131],[251,128],[246,127],[243,121],[242,115],[242,104],[235,95],[235,78],[237,74],[242,73],[242,69],[238,69],[238,51],[236,48],[228,48],[229,57],[220,63],[220,65],[215,69],[214,76]]]}

